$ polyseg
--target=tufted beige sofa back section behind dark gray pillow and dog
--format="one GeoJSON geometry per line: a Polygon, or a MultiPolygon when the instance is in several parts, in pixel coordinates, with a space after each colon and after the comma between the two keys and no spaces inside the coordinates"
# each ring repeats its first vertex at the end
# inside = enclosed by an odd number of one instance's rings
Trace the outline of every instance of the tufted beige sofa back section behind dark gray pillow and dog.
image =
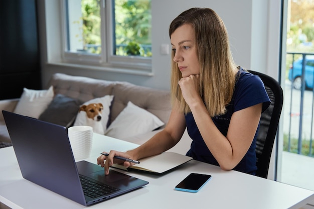
{"type": "Polygon", "coordinates": [[[61,93],[85,102],[93,98],[111,95],[115,81],[55,73],[49,84],[54,86],[55,94],[61,93]]]}

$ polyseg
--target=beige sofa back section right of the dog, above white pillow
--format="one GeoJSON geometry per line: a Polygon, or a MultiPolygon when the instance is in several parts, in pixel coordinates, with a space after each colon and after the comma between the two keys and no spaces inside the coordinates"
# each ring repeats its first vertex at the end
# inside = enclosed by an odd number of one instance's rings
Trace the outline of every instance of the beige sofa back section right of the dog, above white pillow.
{"type": "Polygon", "coordinates": [[[111,121],[125,108],[128,101],[168,122],[171,112],[170,92],[149,87],[134,85],[128,82],[117,82],[113,88],[114,100],[111,121]]]}

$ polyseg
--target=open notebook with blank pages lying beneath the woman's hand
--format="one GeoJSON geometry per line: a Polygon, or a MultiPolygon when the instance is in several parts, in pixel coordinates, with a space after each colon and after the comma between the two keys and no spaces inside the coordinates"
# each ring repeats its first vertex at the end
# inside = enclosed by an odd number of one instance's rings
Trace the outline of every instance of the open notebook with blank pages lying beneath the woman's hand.
{"type": "Polygon", "coordinates": [[[135,164],[127,168],[121,164],[113,164],[112,167],[124,170],[137,169],[161,174],[175,167],[178,167],[179,165],[184,164],[191,159],[193,158],[190,156],[167,151],[161,154],[139,159],[139,164],[135,164]]]}

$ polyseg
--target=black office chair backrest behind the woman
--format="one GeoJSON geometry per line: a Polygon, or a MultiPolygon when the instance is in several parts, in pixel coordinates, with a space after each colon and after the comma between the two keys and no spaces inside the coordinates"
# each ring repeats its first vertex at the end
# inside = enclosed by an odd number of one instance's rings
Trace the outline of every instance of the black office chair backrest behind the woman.
{"type": "Polygon", "coordinates": [[[267,178],[270,156],[283,104],[283,93],[280,84],[274,78],[261,72],[248,71],[261,78],[271,101],[269,107],[261,115],[255,148],[256,175],[267,178]]]}

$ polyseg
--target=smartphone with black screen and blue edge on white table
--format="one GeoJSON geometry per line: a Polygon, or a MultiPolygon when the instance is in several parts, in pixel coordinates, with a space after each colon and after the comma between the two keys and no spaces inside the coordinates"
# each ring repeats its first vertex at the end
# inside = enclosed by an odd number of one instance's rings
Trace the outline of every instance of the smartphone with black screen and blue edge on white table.
{"type": "Polygon", "coordinates": [[[211,175],[190,173],[175,189],[180,191],[198,192],[211,179],[211,175]]]}

